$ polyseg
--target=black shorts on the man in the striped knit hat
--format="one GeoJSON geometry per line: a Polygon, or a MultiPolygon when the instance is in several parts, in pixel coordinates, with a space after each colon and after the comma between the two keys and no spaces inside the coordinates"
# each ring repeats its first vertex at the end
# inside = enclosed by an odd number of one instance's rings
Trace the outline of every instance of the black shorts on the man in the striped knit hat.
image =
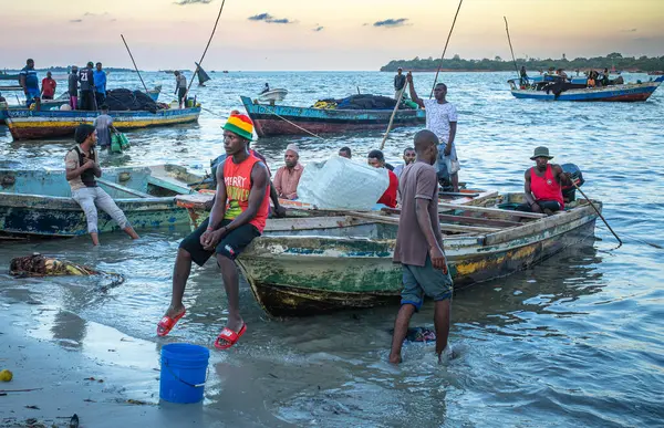
{"type": "MultiPolygon", "coordinates": [[[[217,229],[221,229],[222,227],[230,225],[231,221],[232,220],[221,221],[217,229]]],[[[245,248],[247,248],[247,246],[253,241],[253,238],[260,237],[260,232],[253,225],[245,223],[239,228],[226,233],[217,244],[217,248],[212,251],[208,251],[200,244],[200,237],[207,230],[208,223],[209,219],[206,219],[203,225],[198,227],[198,229],[193,231],[187,238],[183,239],[179,244],[179,248],[191,254],[191,260],[194,260],[194,262],[199,267],[204,265],[215,252],[217,254],[227,257],[230,260],[235,260],[238,255],[240,255],[245,248]]]]}

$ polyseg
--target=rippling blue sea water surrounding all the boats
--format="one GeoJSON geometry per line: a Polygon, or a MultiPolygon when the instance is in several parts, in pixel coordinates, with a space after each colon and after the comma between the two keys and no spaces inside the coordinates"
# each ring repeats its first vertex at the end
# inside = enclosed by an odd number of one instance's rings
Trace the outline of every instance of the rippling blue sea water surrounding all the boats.
{"type": "MultiPolygon", "coordinates": [[[[392,91],[392,74],[377,72],[214,73],[207,87],[193,86],[205,111],[196,125],[127,133],[132,148],[105,155],[103,166],[176,163],[209,169],[222,152],[221,129],[240,94],[264,82],[287,87],[289,103],[356,92],[392,91]]],[[[187,75],[189,77],[189,74],[187,75]]],[[[517,101],[509,73],[445,73],[448,100],[459,112],[460,179],[476,188],[519,191],[532,149],[546,145],[557,163],[583,170],[583,190],[604,202],[604,215],[625,244],[598,221],[596,240],[566,250],[528,271],[479,284],[455,295],[450,340],[459,357],[436,364],[433,344],[407,344],[400,367],[387,364],[396,307],[341,312],[309,319],[273,320],[241,286],[248,332],[229,353],[212,352],[216,377],[206,405],[227,421],[278,426],[644,427],[662,424],[664,385],[664,92],[640,104],[517,101]]],[[[148,86],[164,84],[160,101],[173,100],[173,77],[146,73],[148,86]]],[[[627,75],[626,80],[647,79],[627,75]]],[[[111,87],[137,87],[133,73],[112,73],[111,87]]],[[[428,95],[433,74],[415,75],[428,95]]],[[[59,82],[61,86],[63,82],[59,82]]],[[[386,144],[397,161],[415,128],[396,129],[386,144]]],[[[326,158],[341,146],[357,158],[375,148],[382,133],[260,138],[253,146],[272,170],[283,164],[289,143],[301,161],[326,158]]],[[[71,140],[12,142],[0,127],[0,164],[62,167],[71,140]]],[[[37,332],[66,346],[85,347],[92,323],[158,345],[187,341],[210,346],[226,317],[218,269],[194,269],[186,292],[187,316],[166,340],[155,324],[168,305],[176,249],[187,229],[144,232],[131,242],[122,233],[87,238],[0,243],[0,265],[39,251],[123,273],[126,282],[106,292],[91,279],[13,280],[1,274],[0,299],[54,309],[50,327],[37,332]],[[80,319],[66,332],[62,320],[80,319]],[[90,323],[91,326],[86,326],[90,323]]],[[[70,320],[71,321],[71,320],[70,320]]],[[[430,326],[433,305],[413,325],[430,326]]],[[[71,323],[70,323],[71,324],[71,323]]],[[[136,388],[145,387],[136,386],[136,388]]],[[[156,387],[156,386],[154,386],[156,387]]]]}

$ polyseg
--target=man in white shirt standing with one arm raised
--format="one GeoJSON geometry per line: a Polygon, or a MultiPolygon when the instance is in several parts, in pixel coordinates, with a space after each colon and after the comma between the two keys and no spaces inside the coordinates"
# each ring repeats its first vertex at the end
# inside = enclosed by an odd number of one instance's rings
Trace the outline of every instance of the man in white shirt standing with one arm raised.
{"type": "Polygon", "coordinates": [[[438,180],[446,180],[449,175],[453,191],[459,191],[459,175],[460,168],[459,158],[456,154],[454,138],[456,137],[457,112],[456,107],[448,103],[447,85],[437,83],[434,87],[435,100],[422,100],[415,92],[413,85],[413,74],[408,72],[406,76],[411,98],[422,108],[426,109],[426,128],[436,134],[440,140],[438,146],[438,180]]]}

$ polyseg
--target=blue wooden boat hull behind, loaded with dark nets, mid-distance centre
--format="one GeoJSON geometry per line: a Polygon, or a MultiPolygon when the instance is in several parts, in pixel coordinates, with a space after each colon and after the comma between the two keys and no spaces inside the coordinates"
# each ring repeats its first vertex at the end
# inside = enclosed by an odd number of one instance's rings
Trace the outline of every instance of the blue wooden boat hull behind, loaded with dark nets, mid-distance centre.
{"type": "MultiPolygon", "coordinates": [[[[324,109],[286,105],[262,105],[241,96],[247,114],[253,121],[259,137],[272,135],[307,135],[310,133],[344,133],[350,131],[383,129],[387,127],[392,109],[324,109]],[[297,126],[295,126],[297,125],[297,126]]],[[[400,109],[394,127],[425,123],[423,109],[400,109]]]]}

